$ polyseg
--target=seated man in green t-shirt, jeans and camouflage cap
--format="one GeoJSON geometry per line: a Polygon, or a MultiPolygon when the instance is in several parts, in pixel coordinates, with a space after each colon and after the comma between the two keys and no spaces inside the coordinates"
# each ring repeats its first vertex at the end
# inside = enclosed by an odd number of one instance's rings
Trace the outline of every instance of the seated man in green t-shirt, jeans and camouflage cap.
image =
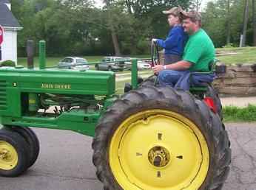
{"type": "MultiPolygon", "coordinates": [[[[189,41],[186,43],[181,61],[153,67],[154,73],[158,74],[158,81],[161,86],[175,87],[176,83],[181,83],[179,80],[184,74],[193,71],[209,71],[209,64],[215,58],[215,47],[212,40],[201,29],[201,14],[182,11],[181,15],[183,15],[183,28],[189,35],[189,41]]],[[[178,88],[181,87],[178,86],[178,88]]]]}

